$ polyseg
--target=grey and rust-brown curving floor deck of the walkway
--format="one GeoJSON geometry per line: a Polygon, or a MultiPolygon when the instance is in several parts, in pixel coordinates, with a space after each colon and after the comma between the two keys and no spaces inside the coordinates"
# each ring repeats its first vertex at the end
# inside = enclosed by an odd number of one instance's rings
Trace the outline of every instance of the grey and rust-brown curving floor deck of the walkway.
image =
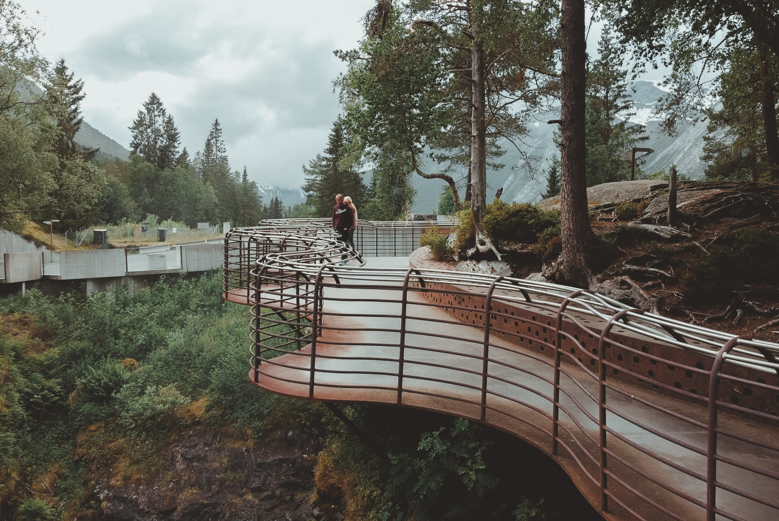
{"type": "MultiPolygon", "coordinates": [[[[685,382],[688,389],[675,396],[681,384],[668,385],[660,375],[653,380],[638,368],[654,367],[659,373],[667,366],[667,373],[677,370],[671,364],[679,364],[679,373],[694,372],[688,380],[697,382],[708,378],[712,361],[707,360],[704,368],[684,357],[693,355],[670,358],[658,350],[656,340],[619,326],[614,330],[622,335],[620,342],[609,344],[607,337],[600,344],[605,353],[599,357],[598,334],[609,321],[573,313],[566,316],[569,334],[562,333],[558,340],[564,347],[559,350],[563,363],[555,366],[550,354],[555,351],[556,305],[523,305],[510,300],[506,291],[492,294],[488,287],[456,283],[423,287],[381,276],[382,269],[407,267],[408,258],[371,259],[362,270],[377,269],[375,280],[365,273],[358,280],[350,278],[348,269],[342,270],[340,280],[323,278],[319,307],[313,306],[315,315],[310,307],[305,315],[321,326],[315,338],[308,333],[311,341],[299,350],[290,350],[289,345],[274,350],[274,341],[284,343],[292,333],[269,332],[270,326],[291,324],[294,333],[290,319],[296,311],[294,299],[280,305],[279,298],[294,290],[299,294],[300,287],[264,286],[260,309],[265,311],[259,312],[262,323],[256,328],[263,357],[256,358],[250,380],[271,393],[304,400],[395,404],[499,428],[548,454],[607,519],[779,519],[776,424],[764,417],[717,415],[718,431],[735,435],[714,434],[716,498],[707,517],[712,483],[707,480],[711,475],[707,388],[689,389],[696,384],[685,382]],[[506,328],[499,330],[492,322],[492,328],[485,328],[480,307],[485,302],[487,312],[495,310],[487,320],[492,316],[506,328]],[[515,328],[510,327],[512,321],[515,328]],[[577,330],[578,335],[573,333],[577,330]],[[562,355],[569,346],[573,354],[566,359],[562,355]],[[623,357],[633,357],[631,365],[623,357]],[[607,364],[607,359],[614,364],[607,364]],[[601,368],[609,376],[605,382],[599,382],[601,368]]],[[[407,274],[406,279],[413,282],[414,276],[407,274]]],[[[234,289],[224,297],[253,304],[247,298],[252,294],[234,289]]],[[[306,322],[297,323],[299,333],[306,322]]],[[[776,375],[763,376],[769,379],[767,387],[777,384],[776,375]]],[[[760,387],[760,379],[747,383],[760,387]]],[[[779,395],[775,398],[779,401],[779,395]]]]}

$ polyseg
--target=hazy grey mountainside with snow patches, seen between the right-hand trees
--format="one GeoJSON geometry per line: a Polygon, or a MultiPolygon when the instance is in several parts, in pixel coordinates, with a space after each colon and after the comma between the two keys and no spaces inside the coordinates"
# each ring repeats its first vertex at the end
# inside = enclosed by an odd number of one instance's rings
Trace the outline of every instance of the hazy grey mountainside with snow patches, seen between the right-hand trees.
{"type": "MultiPolygon", "coordinates": [[[[700,156],[703,153],[703,136],[707,134],[706,121],[699,121],[694,125],[683,123],[679,125],[675,136],[663,134],[659,131],[661,121],[654,116],[654,106],[666,92],[648,81],[633,83],[633,90],[635,92],[632,90],[629,92],[633,100],[631,112],[635,112],[636,115],[629,121],[647,126],[646,135],[649,139],[640,146],[654,150],[654,153],[647,156],[645,164],[641,167],[643,171],[668,170],[671,164],[676,164],[679,172],[689,178],[703,178],[707,164],[700,160],[700,156]]],[[[557,125],[548,125],[546,122],[552,119],[559,119],[559,111],[537,114],[536,121],[529,123],[530,132],[517,141],[520,150],[516,150],[507,141],[501,143],[503,150],[506,150],[506,155],[498,161],[506,166],[499,171],[487,172],[488,201],[495,197],[498,188],[503,188],[501,199],[506,202],[541,200],[541,193],[546,190],[546,167],[552,160],[552,156],[559,157],[559,150],[552,139],[557,125]],[[530,160],[530,164],[540,170],[536,178],[527,175],[523,154],[534,158],[530,160]]],[[[423,165],[422,170],[428,173],[434,173],[439,169],[439,166],[429,159],[423,165]]],[[[455,173],[453,177],[455,179],[464,177],[464,172],[455,173]]],[[[418,191],[411,210],[416,213],[435,212],[439,194],[446,183],[439,179],[424,179],[416,174],[411,178],[418,191]]]]}

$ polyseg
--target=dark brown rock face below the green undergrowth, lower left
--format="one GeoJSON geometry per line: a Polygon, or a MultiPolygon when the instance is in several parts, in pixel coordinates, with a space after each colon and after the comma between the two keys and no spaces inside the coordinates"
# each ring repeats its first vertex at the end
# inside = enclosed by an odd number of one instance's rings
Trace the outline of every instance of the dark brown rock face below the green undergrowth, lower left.
{"type": "Polygon", "coordinates": [[[318,519],[311,498],[322,440],[301,431],[286,438],[266,444],[192,429],[164,449],[153,476],[116,486],[98,473],[85,504],[99,505],[90,517],[107,521],[318,519]]]}

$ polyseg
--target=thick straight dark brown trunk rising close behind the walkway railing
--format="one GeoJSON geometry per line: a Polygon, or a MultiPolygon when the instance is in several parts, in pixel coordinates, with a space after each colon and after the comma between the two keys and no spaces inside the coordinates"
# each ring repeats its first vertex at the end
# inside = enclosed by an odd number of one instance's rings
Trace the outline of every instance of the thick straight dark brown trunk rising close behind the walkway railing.
{"type": "Polygon", "coordinates": [[[559,273],[565,283],[589,287],[587,247],[592,236],[587,211],[584,145],[584,0],[562,0],[562,174],[559,273]]]}

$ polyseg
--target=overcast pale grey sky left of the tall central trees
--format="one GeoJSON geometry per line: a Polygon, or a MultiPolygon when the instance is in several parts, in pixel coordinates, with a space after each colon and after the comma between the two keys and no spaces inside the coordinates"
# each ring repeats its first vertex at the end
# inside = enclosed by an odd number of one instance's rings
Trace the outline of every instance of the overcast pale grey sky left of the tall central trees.
{"type": "Polygon", "coordinates": [[[373,0],[21,0],[85,83],[84,118],[129,148],[136,113],[156,92],[190,154],[214,118],[234,169],[284,188],[323,150],[338,114],[333,55],[354,48],[373,0]]]}

